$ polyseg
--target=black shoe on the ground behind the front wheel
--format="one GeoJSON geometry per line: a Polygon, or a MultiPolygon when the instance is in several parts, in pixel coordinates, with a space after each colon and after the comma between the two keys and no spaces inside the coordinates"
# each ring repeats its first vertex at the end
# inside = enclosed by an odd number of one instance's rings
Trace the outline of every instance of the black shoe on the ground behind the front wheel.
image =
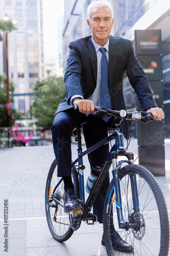
{"type": "MultiPolygon", "coordinates": [[[[133,246],[125,242],[116,231],[112,231],[111,240],[113,249],[117,251],[133,251],[133,246]]],[[[102,236],[102,245],[105,245],[104,234],[102,236]]]]}

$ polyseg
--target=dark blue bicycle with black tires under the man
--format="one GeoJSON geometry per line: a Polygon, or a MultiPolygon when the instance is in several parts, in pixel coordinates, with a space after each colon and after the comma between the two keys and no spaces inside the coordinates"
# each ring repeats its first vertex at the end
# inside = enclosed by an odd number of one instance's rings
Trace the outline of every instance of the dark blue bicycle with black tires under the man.
{"type": "MultiPolygon", "coordinates": [[[[75,106],[77,109],[77,106],[75,106]]],[[[81,127],[76,127],[76,141],[78,143],[78,158],[72,161],[72,180],[75,191],[82,205],[81,210],[65,214],[64,188],[62,178],[57,177],[57,162],[53,161],[48,172],[45,187],[45,212],[48,227],[55,240],[64,242],[80,227],[81,221],[95,222],[95,216],[90,212],[100,187],[113,165],[113,179],[106,194],[103,228],[105,246],[108,255],[127,255],[128,252],[117,252],[112,247],[110,225],[114,223],[120,237],[134,248],[133,255],[167,256],[169,248],[169,222],[165,200],[155,177],[146,168],[134,164],[133,153],[124,149],[123,134],[120,122],[123,119],[152,121],[153,117],[147,112],[114,111],[102,107],[95,107],[93,113],[87,115],[114,117],[114,133],[99,143],[82,152],[81,127]],[[115,139],[108,157],[101,168],[91,193],[85,201],[83,156],[96,148],[115,139]],[[117,163],[118,156],[125,156],[127,160],[117,163]],[[78,164],[77,164],[78,163],[78,164]],[[125,165],[125,166],[123,166],[125,165]]]]}

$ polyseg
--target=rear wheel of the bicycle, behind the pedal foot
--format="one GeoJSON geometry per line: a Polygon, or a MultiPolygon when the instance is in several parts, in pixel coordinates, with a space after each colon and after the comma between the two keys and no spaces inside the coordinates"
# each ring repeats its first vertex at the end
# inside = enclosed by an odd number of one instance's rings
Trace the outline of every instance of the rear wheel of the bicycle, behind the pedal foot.
{"type": "MultiPolygon", "coordinates": [[[[72,181],[75,186],[76,194],[79,195],[79,177],[76,171],[76,167],[73,166],[71,169],[72,181]]],[[[61,177],[57,177],[57,161],[56,159],[53,161],[50,170],[47,175],[46,186],[45,186],[45,214],[46,220],[48,224],[48,228],[53,236],[53,238],[59,242],[64,242],[68,240],[74,230],[72,230],[69,223],[69,215],[64,212],[63,207],[55,203],[53,204],[55,207],[51,207],[49,205],[49,191],[51,189],[51,193],[54,190],[55,186],[61,180],[61,177]]],[[[56,189],[55,197],[61,203],[64,203],[64,182],[62,181],[56,189]]]]}

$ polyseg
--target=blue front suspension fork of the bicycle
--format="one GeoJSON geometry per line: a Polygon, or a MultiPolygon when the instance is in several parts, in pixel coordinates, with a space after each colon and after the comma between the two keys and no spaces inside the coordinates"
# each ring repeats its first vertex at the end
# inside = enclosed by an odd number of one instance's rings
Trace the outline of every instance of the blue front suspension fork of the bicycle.
{"type": "MultiPolygon", "coordinates": [[[[119,181],[119,173],[120,168],[123,163],[128,163],[129,165],[133,163],[133,154],[127,153],[127,152],[119,152],[116,153],[115,151],[111,154],[112,164],[113,164],[113,189],[114,189],[114,195],[115,195],[115,204],[116,204],[116,211],[117,211],[117,219],[118,219],[118,225],[119,228],[136,228],[136,224],[133,225],[133,223],[130,225],[129,223],[125,223],[123,212],[122,212],[122,199],[121,199],[121,192],[120,192],[120,181],[119,181]],[[118,155],[125,155],[128,160],[119,161],[117,164],[117,156],[118,155]]],[[[131,174],[130,175],[130,181],[131,181],[131,189],[132,189],[132,197],[133,197],[133,208],[134,212],[139,212],[139,201],[138,201],[138,191],[137,191],[137,183],[136,183],[136,175],[131,174]]],[[[112,191],[113,191],[112,189],[112,191]]],[[[112,193],[112,191],[110,193],[112,193]]],[[[111,196],[111,194],[110,194],[111,196]]]]}

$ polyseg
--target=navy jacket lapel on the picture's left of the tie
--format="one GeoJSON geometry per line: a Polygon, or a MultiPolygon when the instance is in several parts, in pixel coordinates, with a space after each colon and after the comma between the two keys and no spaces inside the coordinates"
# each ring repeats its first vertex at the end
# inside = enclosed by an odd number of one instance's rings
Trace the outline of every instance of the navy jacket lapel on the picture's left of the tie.
{"type": "Polygon", "coordinates": [[[95,78],[95,82],[96,82],[97,81],[97,72],[98,72],[98,61],[97,61],[95,48],[94,48],[93,43],[91,41],[91,37],[87,41],[86,51],[88,52],[88,55],[89,55],[90,60],[91,60],[91,65],[92,65],[92,68],[93,68],[93,74],[94,74],[94,78],[95,78]]]}

